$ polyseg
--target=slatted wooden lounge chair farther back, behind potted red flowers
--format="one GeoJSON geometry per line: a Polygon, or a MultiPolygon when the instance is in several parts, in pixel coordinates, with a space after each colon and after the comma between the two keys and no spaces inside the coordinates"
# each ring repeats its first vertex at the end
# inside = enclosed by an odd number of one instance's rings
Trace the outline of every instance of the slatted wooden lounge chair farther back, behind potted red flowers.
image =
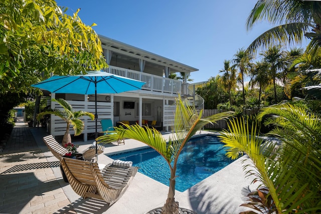
{"type": "MultiPolygon", "coordinates": [[[[48,146],[49,150],[52,152],[52,154],[58,158],[59,160],[64,156],[67,152],[67,149],[63,146],[61,146],[52,135],[48,135],[46,137],[43,137],[43,140],[45,144],[48,146]]],[[[105,147],[102,145],[97,145],[97,154],[101,154],[104,152],[105,147]]],[[[95,146],[90,146],[84,151],[80,152],[85,160],[91,160],[95,157],[96,154],[96,148],[95,146]]]]}

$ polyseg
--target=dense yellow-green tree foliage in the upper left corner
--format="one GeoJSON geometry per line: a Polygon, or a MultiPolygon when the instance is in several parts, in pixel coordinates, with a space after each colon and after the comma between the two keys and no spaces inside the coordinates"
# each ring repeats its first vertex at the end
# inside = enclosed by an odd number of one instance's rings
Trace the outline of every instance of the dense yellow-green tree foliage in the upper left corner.
{"type": "Polygon", "coordinates": [[[82,23],[79,10],[73,16],[64,12],[54,0],[0,3],[0,93],[28,93],[51,74],[107,66],[95,24],[82,23]]]}

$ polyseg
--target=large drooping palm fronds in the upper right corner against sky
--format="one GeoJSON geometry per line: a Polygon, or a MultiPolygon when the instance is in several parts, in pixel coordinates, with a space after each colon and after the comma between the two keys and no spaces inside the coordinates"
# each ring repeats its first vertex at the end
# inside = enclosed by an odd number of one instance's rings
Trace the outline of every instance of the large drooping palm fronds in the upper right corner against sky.
{"type": "Polygon", "coordinates": [[[316,50],[321,44],[321,2],[301,0],[260,0],[247,19],[247,30],[261,20],[277,25],[262,33],[248,47],[255,53],[259,47],[300,43],[304,36],[311,39],[307,51],[316,50]],[[309,32],[309,33],[307,33],[309,32]]]}

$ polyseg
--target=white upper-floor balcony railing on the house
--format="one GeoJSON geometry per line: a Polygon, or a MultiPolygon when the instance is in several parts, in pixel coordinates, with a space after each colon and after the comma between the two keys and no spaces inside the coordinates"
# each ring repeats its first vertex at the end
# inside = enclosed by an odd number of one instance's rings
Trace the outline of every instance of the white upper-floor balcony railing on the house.
{"type": "Polygon", "coordinates": [[[177,95],[181,93],[182,82],[180,80],[165,78],[115,66],[109,66],[107,69],[104,69],[104,71],[107,73],[112,73],[119,76],[146,82],[146,84],[142,86],[143,90],[167,93],[169,95],[177,95]]]}

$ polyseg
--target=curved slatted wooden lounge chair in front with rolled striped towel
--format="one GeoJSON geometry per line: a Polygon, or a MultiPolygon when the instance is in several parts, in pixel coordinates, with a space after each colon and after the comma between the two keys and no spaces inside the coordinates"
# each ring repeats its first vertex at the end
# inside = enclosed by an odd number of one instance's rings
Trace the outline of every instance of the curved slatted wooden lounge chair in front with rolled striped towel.
{"type": "Polygon", "coordinates": [[[100,171],[97,163],[62,158],[60,164],[72,189],[84,199],[93,197],[116,202],[129,186],[138,167],[108,164],[100,171]]]}

